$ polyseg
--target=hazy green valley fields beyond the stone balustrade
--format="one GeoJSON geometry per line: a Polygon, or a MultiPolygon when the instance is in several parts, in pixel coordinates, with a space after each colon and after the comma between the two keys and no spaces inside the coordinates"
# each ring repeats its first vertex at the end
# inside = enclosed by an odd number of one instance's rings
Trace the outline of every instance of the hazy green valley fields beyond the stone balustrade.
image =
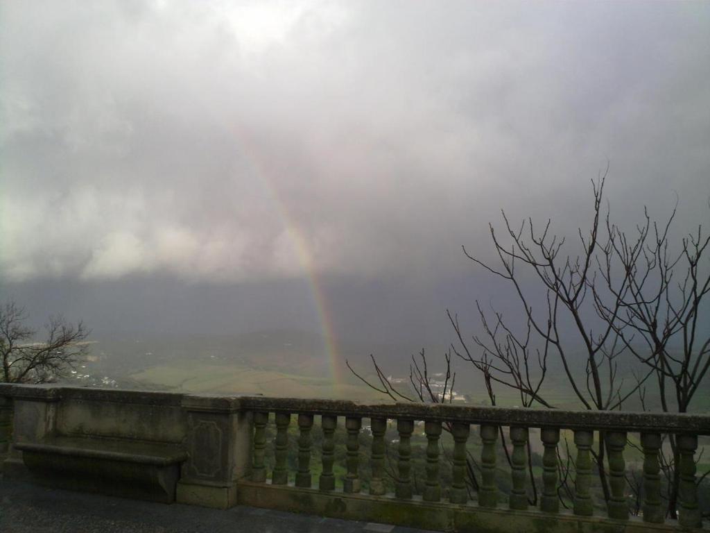
{"type": "MultiPolygon", "coordinates": [[[[83,386],[113,386],[133,389],[219,394],[263,394],[274,397],[356,399],[391,402],[391,398],[367,387],[345,367],[345,360],[373,384],[368,353],[374,353],[386,376],[404,394],[413,395],[409,383],[410,355],[403,346],[371,346],[341,343],[332,357],[324,350],[320,335],[291,330],[264,330],[234,337],[141,338],[98,341],[91,345],[91,358],[72,382],[83,386]],[[338,367],[333,370],[334,361],[338,367]],[[340,379],[333,378],[333,372],[340,379]]],[[[442,357],[430,357],[429,375],[441,382],[445,372],[442,357]]],[[[552,360],[541,392],[558,409],[583,409],[559,362],[552,360]]],[[[579,369],[576,369],[579,370],[579,369]]],[[[484,380],[473,365],[452,360],[456,372],[454,390],[469,404],[490,405],[484,380]]],[[[579,379],[583,379],[582,375],[579,379]]],[[[709,378],[710,379],[710,378],[709,378]]],[[[626,387],[633,379],[626,379],[626,387]]],[[[580,381],[582,383],[583,381],[580,381]]],[[[450,385],[450,382],[449,382],[450,385]]],[[[702,387],[692,410],[710,406],[710,381],[702,387]]],[[[493,384],[496,405],[522,404],[517,391],[493,384]]],[[[649,383],[647,407],[657,409],[655,390],[649,383]]],[[[638,398],[630,397],[624,410],[640,410],[638,398]]]]}

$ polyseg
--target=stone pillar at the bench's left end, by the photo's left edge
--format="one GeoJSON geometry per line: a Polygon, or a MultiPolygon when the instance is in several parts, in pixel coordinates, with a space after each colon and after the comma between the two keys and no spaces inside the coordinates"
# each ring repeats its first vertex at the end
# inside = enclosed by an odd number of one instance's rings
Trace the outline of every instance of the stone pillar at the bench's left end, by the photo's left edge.
{"type": "MultiPolygon", "coordinates": [[[[15,443],[36,443],[53,436],[56,431],[60,387],[53,385],[21,385],[9,387],[12,397],[12,441],[8,446],[8,457],[3,463],[3,474],[12,478],[25,478],[28,470],[22,452],[14,448],[15,443]]],[[[7,404],[5,404],[7,409],[7,404]]]]}

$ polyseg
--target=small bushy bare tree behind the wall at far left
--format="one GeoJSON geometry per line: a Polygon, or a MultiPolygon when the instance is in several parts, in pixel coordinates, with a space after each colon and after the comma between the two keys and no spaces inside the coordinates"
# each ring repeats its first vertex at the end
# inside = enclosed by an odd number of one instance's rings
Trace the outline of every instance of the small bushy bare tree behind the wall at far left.
{"type": "Polygon", "coordinates": [[[0,381],[9,383],[51,382],[74,367],[87,355],[84,343],[89,330],[84,324],[50,318],[44,340],[25,325],[27,314],[14,301],[0,308],[0,381]]]}

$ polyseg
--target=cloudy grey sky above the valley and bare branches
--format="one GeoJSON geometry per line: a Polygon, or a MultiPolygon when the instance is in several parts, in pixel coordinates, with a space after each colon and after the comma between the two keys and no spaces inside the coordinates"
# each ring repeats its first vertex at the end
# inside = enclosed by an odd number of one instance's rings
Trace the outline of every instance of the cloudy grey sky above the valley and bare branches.
{"type": "Polygon", "coordinates": [[[501,209],[707,227],[709,95],[704,2],[2,1],[0,296],[446,343],[501,209]]]}

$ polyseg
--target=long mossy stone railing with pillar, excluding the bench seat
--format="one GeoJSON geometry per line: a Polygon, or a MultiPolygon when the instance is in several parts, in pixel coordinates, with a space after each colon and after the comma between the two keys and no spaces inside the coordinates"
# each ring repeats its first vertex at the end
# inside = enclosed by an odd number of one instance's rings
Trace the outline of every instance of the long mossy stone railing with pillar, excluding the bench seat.
{"type": "MultiPolygon", "coordinates": [[[[116,470],[116,461],[143,465],[152,457],[162,465],[165,457],[181,462],[180,479],[170,492],[158,475],[165,489],[161,497],[172,493],[176,501],[188,504],[241,503],[476,532],[707,531],[695,463],[699,436],[710,435],[710,416],[705,414],[359,404],[0,384],[0,422],[9,419],[3,418],[3,407],[8,411],[9,406],[15,431],[6,475],[20,475],[24,464],[31,467],[31,475],[42,478],[43,465],[53,464],[37,459],[43,453],[88,453],[106,472],[123,471],[116,470]],[[422,426],[423,434],[417,429],[422,426]],[[595,501],[593,490],[591,455],[597,432],[603,432],[608,452],[606,503],[595,501]],[[397,438],[390,438],[393,434],[397,438]],[[558,497],[561,434],[569,434],[573,442],[569,510],[561,508],[558,497]],[[509,472],[496,463],[501,435],[508,440],[509,472]],[[677,521],[665,518],[662,502],[659,455],[664,435],[676,436],[679,451],[677,521]],[[89,451],[76,444],[79,437],[91,441],[89,451]],[[425,467],[423,483],[417,486],[413,473],[421,465],[413,454],[413,439],[425,441],[425,453],[418,459],[425,467]],[[447,456],[442,455],[444,441],[447,456]],[[139,453],[143,448],[136,448],[135,442],[148,442],[146,449],[158,451],[147,457],[150,454],[139,453]],[[628,442],[638,443],[643,455],[639,516],[629,515],[628,442]],[[117,453],[121,446],[129,452],[117,453]],[[542,451],[538,473],[528,468],[528,446],[542,451]],[[184,456],[175,453],[177,448],[184,456]],[[472,449],[479,465],[476,492],[469,492],[466,483],[472,449]],[[528,498],[530,473],[539,475],[536,481],[542,487],[535,507],[528,498]],[[498,488],[501,475],[510,476],[507,497],[498,488]],[[444,478],[447,483],[442,483],[444,478]]],[[[75,463],[67,464],[74,468],[75,463]]],[[[136,467],[129,469],[131,475],[135,472],[136,467]]],[[[64,470],[64,475],[70,473],[64,470]]]]}

